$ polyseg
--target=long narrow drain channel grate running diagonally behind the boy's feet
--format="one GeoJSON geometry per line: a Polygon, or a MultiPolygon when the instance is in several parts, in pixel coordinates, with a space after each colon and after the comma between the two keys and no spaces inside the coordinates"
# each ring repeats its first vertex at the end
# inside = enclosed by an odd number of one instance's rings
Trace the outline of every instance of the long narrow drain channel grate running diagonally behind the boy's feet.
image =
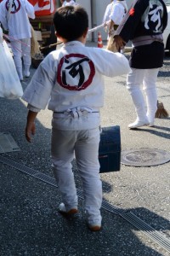
{"type": "MultiPolygon", "coordinates": [[[[8,166],[14,167],[20,172],[25,172],[31,177],[36,177],[45,183],[53,185],[54,187],[58,187],[54,177],[49,177],[48,175],[45,175],[42,172],[38,172],[27,166],[20,165],[20,163],[14,160],[10,160],[6,157],[3,157],[2,155],[0,155],[0,162],[8,166]]],[[[77,189],[77,195],[79,198],[83,199],[83,193],[80,189],[77,189]]],[[[104,208],[108,212],[112,212],[126,219],[128,223],[133,224],[134,227],[144,232],[146,236],[149,236],[150,239],[152,239],[153,241],[156,241],[157,244],[159,244],[161,247],[166,249],[167,252],[170,253],[170,240],[167,239],[167,237],[162,236],[160,232],[154,230],[149,224],[146,224],[141,218],[134,215],[133,212],[129,212],[129,211],[127,212],[124,209],[115,207],[105,200],[103,200],[102,202],[102,208],[104,208]]]]}

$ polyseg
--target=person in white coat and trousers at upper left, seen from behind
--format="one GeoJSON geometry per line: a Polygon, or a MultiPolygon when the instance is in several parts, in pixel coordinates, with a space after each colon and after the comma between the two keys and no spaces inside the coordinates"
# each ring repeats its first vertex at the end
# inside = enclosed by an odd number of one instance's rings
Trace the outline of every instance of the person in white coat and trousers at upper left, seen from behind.
{"type": "Polygon", "coordinates": [[[30,76],[31,67],[31,25],[29,18],[35,19],[34,8],[27,0],[3,0],[0,3],[0,21],[8,31],[14,64],[20,81],[30,76]]]}

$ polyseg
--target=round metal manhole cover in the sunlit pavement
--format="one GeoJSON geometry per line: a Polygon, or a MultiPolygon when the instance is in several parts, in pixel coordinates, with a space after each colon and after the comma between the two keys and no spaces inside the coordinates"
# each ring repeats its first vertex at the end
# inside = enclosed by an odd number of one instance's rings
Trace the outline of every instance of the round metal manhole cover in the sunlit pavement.
{"type": "Polygon", "coordinates": [[[121,163],[126,166],[159,166],[170,161],[170,153],[154,148],[124,150],[121,163]]]}

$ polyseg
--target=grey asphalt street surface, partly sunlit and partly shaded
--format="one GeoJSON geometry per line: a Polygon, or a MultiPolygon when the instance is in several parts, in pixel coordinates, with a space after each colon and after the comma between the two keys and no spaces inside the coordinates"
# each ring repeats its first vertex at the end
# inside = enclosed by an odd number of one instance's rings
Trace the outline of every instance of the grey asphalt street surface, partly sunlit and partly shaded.
{"type": "MultiPolygon", "coordinates": [[[[170,113],[170,57],[165,57],[164,64],[157,88],[159,100],[170,113]]],[[[31,75],[34,72],[32,68],[31,75]]],[[[23,89],[28,82],[22,83],[23,89]]],[[[39,113],[37,134],[29,144],[25,139],[26,102],[0,98],[0,108],[0,132],[9,132],[20,147],[20,151],[0,154],[1,256],[170,255],[170,162],[150,167],[122,165],[120,172],[101,174],[105,205],[118,210],[113,213],[102,207],[103,228],[92,233],[86,226],[82,198],[77,218],[65,219],[57,211],[60,196],[56,185],[47,182],[48,178],[40,180],[25,172],[30,167],[54,181],[50,163],[52,113],[48,109],[39,113]],[[5,164],[1,157],[14,160],[18,166],[5,164]],[[135,224],[137,217],[143,225],[135,224]]],[[[120,125],[122,151],[158,148],[170,152],[170,118],[156,119],[153,128],[130,131],[127,125],[134,119],[126,76],[105,78],[101,125],[120,125]]],[[[82,184],[73,166],[82,195],[82,184]]]]}

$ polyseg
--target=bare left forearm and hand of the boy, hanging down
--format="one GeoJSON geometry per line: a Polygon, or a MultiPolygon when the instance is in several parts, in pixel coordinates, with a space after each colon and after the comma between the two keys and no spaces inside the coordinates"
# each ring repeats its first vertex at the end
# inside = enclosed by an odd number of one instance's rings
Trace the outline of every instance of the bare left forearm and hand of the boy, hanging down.
{"type": "Polygon", "coordinates": [[[26,140],[28,143],[31,143],[31,135],[36,133],[35,119],[38,112],[28,111],[27,122],[26,122],[26,140]]]}

